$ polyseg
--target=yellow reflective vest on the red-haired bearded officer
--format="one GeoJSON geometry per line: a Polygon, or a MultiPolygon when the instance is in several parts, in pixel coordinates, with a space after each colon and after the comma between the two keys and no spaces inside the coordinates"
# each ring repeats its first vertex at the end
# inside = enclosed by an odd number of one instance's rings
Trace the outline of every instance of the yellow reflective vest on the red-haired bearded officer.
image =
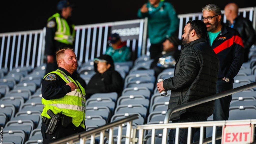
{"type": "Polygon", "coordinates": [[[56,70],[49,74],[52,73],[60,76],[61,79],[63,79],[66,83],[73,82],[77,85],[77,87],[79,87],[79,89],[75,89],[67,93],[64,97],[58,99],[46,100],[42,98],[42,104],[44,105],[44,109],[42,111],[41,116],[50,118],[50,116],[46,113],[48,109],[52,110],[54,114],[62,112],[62,114],[72,117],[72,123],[75,126],[78,127],[80,125],[81,127],[85,128],[85,111],[82,109],[82,100],[86,101],[84,98],[84,88],[80,85],[80,83],[77,80],[73,80],[70,76],[67,76],[61,70],[56,70]]]}

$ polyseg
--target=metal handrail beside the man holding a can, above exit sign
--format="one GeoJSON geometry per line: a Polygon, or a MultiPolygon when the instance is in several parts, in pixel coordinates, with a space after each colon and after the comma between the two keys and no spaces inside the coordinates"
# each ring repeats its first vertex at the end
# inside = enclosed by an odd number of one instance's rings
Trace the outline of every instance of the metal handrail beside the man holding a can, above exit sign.
{"type": "Polygon", "coordinates": [[[197,105],[203,104],[205,102],[216,100],[216,99],[219,99],[219,98],[222,98],[222,97],[226,97],[226,96],[235,94],[237,92],[242,92],[244,90],[254,88],[254,87],[256,87],[256,82],[253,82],[253,83],[250,83],[250,84],[247,84],[247,85],[244,85],[244,86],[240,86],[240,87],[237,87],[237,88],[234,88],[234,89],[230,89],[230,90],[227,90],[227,91],[223,91],[223,92],[220,92],[220,93],[212,95],[212,96],[208,96],[208,97],[204,97],[204,98],[201,98],[201,99],[198,99],[198,100],[190,101],[186,104],[181,104],[181,105],[179,105],[179,106],[177,106],[173,109],[170,108],[170,109],[167,110],[167,112],[165,114],[164,124],[169,123],[169,119],[170,119],[170,117],[172,116],[172,114],[174,112],[177,112],[177,111],[180,111],[180,110],[183,110],[183,109],[187,109],[187,108],[190,108],[190,107],[193,107],[193,106],[197,106],[197,105]]]}

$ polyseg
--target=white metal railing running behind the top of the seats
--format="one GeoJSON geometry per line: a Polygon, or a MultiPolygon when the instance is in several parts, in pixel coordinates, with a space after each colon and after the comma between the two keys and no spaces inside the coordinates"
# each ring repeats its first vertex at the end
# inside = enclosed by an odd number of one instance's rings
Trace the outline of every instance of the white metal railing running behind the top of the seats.
{"type": "MultiPolygon", "coordinates": [[[[224,13],[224,11],[222,11],[224,13]]],[[[240,8],[239,14],[249,17],[255,29],[256,7],[240,8]]],[[[202,13],[178,15],[179,29],[178,38],[181,39],[185,22],[188,20],[201,19],[202,13]]],[[[223,22],[226,22],[225,15],[223,22]]],[[[80,62],[87,62],[101,54],[107,47],[110,28],[117,25],[140,24],[138,39],[128,39],[127,46],[131,47],[134,58],[149,54],[150,40],[147,38],[147,18],[109,22],[100,24],[89,24],[76,26],[76,39],[74,42],[75,53],[80,62]]],[[[43,63],[45,49],[45,28],[43,30],[30,30],[22,32],[11,32],[0,34],[0,69],[13,67],[32,68],[43,63]]]]}

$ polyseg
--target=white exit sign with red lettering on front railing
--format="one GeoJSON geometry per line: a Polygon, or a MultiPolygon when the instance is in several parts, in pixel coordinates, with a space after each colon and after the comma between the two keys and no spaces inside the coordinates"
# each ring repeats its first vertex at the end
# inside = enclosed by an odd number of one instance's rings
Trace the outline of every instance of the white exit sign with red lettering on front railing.
{"type": "Polygon", "coordinates": [[[253,141],[253,125],[226,125],[222,128],[222,144],[248,144],[253,141]]]}

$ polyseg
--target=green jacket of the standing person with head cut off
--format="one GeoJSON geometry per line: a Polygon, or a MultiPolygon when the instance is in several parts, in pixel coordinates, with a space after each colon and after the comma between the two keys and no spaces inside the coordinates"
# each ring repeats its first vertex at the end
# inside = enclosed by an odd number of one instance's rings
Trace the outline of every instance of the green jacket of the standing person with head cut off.
{"type": "Polygon", "coordinates": [[[163,42],[166,36],[175,35],[179,26],[179,19],[173,5],[161,1],[158,7],[152,6],[149,2],[147,7],[147,13],[141,13],[141,9],[138,10],[138,17],[148,17],[148,37],[150,38],[150,43],[158,44],[163,42]]]}

